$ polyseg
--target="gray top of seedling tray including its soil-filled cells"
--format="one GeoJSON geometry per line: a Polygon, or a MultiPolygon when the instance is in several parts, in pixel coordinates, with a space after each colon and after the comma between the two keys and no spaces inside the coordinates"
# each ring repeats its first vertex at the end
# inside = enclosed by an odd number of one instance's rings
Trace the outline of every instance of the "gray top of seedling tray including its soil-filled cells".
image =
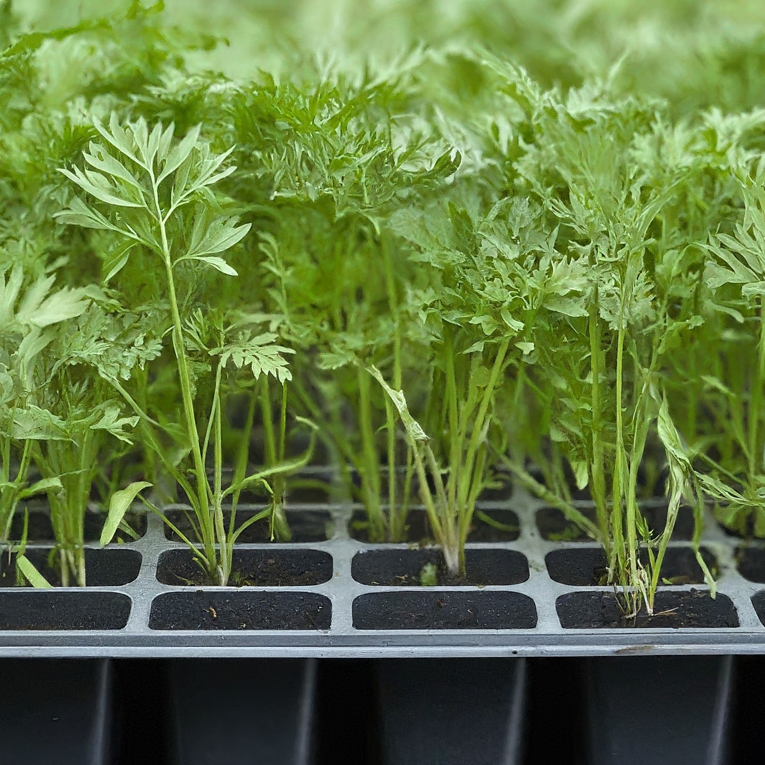
{"type": "MultiPolygon", "coordinates": [[[[251,527],[235,556],[242,586],[229,588],[197,581],[184,545],[148,516],[135,542],[104,550],[89,543],[88,588],[0,588],[0,656],[765,651],[765,546],[727,535],[711,516],[704,549],[718,572],[716,599],[701,583],[690,552],[692,523],[681,516],[664,571],[674,584],[660,588],[656,616],[625,620],[613,589],[597,584],[601,552],[575,539],[559,513],[519,490],[480,508],[503,530],[477,529],[467,547],[467,580],[456,584],[439,568],[438,551],[418,544],[425,528],[418,509],[411,543],[378,545],[364,541],[353,523],[359,506],[291,503],[295,541],[263,541],[262,529],[251,527]],[[426,564],[436,581],[423,587],[426,564]]],[[[657,528],[662,508],[659,500],[646,505],[657,528]]],[[[28,555],[44,560],[46,544],[31,544],[28,555]]]]}

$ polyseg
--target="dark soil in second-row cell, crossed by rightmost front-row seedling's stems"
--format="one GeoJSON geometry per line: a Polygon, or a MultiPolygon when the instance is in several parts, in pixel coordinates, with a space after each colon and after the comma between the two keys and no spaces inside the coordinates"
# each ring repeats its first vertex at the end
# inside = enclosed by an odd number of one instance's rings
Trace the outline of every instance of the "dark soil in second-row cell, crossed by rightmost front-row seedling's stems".
{"type": "MultiPolygon", "coordinates": [[[[715,575],[717,558],[711,550],[702,548],[702,558],[715,575]]],[[[640,562],[648,563],[648,551],[640,551],[640,562]]],[[[599,547],[577,547],[552,550],[545,555],[550,578],[574,587],[607,584],[606,555],[599,547]]],[[[690,547],[669,547],[662,562],[662,584],[702,584],[704,573],[690,547]],[[665,581],[668,580],[668,581],[665,581]]],[[[765,581],[765,580],[763,580],[765,581]]],[[[661,585],[659,585],[661,586],[661,585]]]]}

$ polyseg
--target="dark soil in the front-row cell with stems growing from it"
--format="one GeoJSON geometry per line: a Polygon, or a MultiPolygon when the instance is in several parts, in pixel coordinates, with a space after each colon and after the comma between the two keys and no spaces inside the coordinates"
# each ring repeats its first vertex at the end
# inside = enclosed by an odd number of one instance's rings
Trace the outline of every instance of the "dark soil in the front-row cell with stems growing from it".
{"type": "Polygon", "coordinates": [[[561,595],[555,601],[555,609],[561,626],[567,630],[738,627],[738,615],[731,599],[719,593],[712,598],[705,590],[656,593],[653,617],[646,614],[644,608],[636,617],[624,617],[616,595],[602,591],[561,595]]]}

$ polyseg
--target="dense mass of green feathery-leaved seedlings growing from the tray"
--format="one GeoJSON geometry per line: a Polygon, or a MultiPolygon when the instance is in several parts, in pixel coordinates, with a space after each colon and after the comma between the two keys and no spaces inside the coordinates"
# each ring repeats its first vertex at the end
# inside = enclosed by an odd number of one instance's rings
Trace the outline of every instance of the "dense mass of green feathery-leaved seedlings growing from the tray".
{"type": "Polygon", "coordinates": [[[24,556],[36,503],[61,584],[86,584],[89,514],[106,545],[135,509],[233,583],[249,526],[289,539],[309,464],[370,541],[424,509],[454,577],[480,496],[513,483],[603,545],[632,612],[682,505],[713,592],[705,503],[765,536],[765,114],[745,94],[625,86],[629,60],[551,77],[476,41],[229,78],[190,71],[210,41],[158,6],[47,34],[3,8],[0,544],[20,584],[49,585],[24,556]]]}

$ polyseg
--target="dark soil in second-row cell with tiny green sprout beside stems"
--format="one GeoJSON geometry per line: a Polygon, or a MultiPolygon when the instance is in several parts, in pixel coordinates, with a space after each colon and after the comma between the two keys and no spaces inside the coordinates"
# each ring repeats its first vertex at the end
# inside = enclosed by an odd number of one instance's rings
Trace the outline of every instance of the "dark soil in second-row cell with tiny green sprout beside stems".
{"type": "Polygon", "coordinates": [[[529,578],[529,562],[516,550],[468,549],[466,575],[451,575],[440,549],[382,549],[357,552],[350,570],[361,584],[421,587],[438,584],[518,584],[529,578]]]}

